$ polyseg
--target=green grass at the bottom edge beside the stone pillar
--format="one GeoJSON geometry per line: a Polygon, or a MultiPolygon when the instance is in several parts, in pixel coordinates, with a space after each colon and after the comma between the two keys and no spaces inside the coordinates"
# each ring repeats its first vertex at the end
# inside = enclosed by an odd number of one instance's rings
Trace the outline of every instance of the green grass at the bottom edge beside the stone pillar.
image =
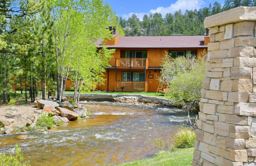
{"type": "Polygon", "coordinates": [[[162,151],[153,158],[140,159],[117,166],[188,166],[192,165],[194,147],[177,149],[175,152],[162,151]]]}

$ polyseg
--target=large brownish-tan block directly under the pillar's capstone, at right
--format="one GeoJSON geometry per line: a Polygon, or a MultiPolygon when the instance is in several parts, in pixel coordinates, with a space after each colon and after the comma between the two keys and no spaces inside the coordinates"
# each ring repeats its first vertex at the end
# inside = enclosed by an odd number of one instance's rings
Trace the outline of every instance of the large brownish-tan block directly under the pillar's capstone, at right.
{"type": "Polygon", "coordinates": [[[254,22],[239,22],[234,25],[234,36],[252,36],[254,29],[254,22]]]}

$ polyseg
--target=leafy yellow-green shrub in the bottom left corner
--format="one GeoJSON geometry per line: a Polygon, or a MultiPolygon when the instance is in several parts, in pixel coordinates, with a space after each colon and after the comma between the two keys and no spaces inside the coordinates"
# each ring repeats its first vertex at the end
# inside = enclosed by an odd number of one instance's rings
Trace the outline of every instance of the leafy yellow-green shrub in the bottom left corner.
{"type": "MultiPolygon", "coordinates": [[[[1,155],[0,154],[0,165],[1,166],[28,166],[25,164],[22,154],[20,154],[20,147],[16,144],[15,147],[16,155],[1,155]]],[[[28,161],[29,162],[29,161],[28,161]]]]}

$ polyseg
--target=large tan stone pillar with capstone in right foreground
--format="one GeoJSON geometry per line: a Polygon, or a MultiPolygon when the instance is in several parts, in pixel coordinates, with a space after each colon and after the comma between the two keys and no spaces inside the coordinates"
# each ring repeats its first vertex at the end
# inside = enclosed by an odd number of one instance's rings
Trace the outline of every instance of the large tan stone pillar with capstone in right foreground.
{"type": "Polygon", "coordinates": [[[210,28],[193,166],[256,166],[256,7],[205,18],[210,28]]]}

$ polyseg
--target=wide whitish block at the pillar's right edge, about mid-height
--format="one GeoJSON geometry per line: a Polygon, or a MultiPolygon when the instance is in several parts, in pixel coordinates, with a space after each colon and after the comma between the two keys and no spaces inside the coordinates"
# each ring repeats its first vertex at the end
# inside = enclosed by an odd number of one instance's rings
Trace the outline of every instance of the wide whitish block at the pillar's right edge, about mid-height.
{"type": "Polygon", "coordinates": [[[256,103],[240,102],[235,105],[235,114],[256,117],[256,103]]]}

